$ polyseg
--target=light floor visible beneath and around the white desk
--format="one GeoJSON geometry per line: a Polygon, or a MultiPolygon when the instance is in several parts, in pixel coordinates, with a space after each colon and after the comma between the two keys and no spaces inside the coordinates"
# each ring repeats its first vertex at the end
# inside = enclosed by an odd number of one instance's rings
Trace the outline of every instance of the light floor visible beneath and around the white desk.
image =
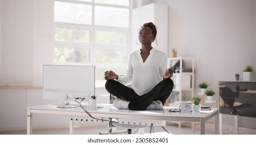
{"type": "MultiPolygon", "coordinates": [[[[151,134],[174,134],[174,135],[199,135],[199,128],[195,128],[195,133],[193,133],[192,127],[182,125],[180,128],[177,123],[173,122],[166,122],[166,126],[164,128],[160,126],[154,126],[152,129],[151,134]],[[165,131],[165,129],[167,132],[165,131]]],[[[102,134],[108,134],[110,130],[110,127],[107,127],[106,124],[104,125],[91,125],[91,126],[76,126],[74,128],[74,134],[75,135],[99,135],[102,134]]],[[[144,134],[150,134],[150,127],[147,127],[144,129],[144,134]]],[[[136,129],[132,130],[132,134],[139,134],[139,131],[136,131],[136,129]],[[134,133],[135,132],[135,133],[134,133]]],[[[112,128],[112,134],[118,132],[126,132],[126,129],[123,128],[112,128]]],[[[16,130],[16,131],[6,131],[6,132],[0,132],[0,135],[25,135],[26,130],[16,130]]],[[[45,128],[45,129],[33,129],[33,134],[35,135],[66,135],[69,134],[69,127],[64,128],[45,128]]],[[[126,133],[122,133],[126,134],[126,133]]],[[[206,134],[213,134],[213,131],[206,130],[206,134]]]]}

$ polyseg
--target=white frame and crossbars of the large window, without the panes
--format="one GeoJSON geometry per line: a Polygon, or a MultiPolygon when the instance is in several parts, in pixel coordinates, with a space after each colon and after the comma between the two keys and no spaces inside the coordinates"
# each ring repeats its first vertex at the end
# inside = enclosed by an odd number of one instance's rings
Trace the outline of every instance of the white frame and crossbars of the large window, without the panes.
{"type": "MultiPolygon", "coordinates": [[[[74,0],[56,0],[59,2],[68,2],[68,3],[78,3],[78,4],[86,4],[92,5],[92,24],[73,24],[73,23],[64,23],[64,22],[55,22],[56,27],[64,27],[64,28],[82,28],[90,31],[90,42],[65,42],[65,41],[56,41],[55,40],[55,48],[56,47],[72,47],[72,48],[87,48],[90,51],[89,54],[89,63],[70,63],[70,62],[54,62],[55,64],[76,64],[76,65],[94,65],[97,68],[102,67],[119,67],[124,68],[126,70],[128,55],[131,52],[130,45],[130,37],[131,37],[131,13],[132,13],[132,1],[129,0],[129,6],[119,6],[119,5],[111,5],[111,4],[102,4],[96,3],[95,0],[92,2],[84,2],[84,1],[74,1],[74,0]],[[116,7],[116,8],[127,8],[129,9],[129,27],[112,27],[112,26],[100,26],[95,25],[95,6],[107,6],[107,7],[116,7]],[[122,32],[127,33],[127,44],[96,44],[96,31],[112,31],[112,32],[122,32]],[[117,50],[117,51],[126,51],[127,58],[126,63],[97,63],[96,62],[96,50],[117,50]]],[[[55,49],[53,48],[53,50],[55,49]]],[[[97,70],[96,70],[97,71],[97,70]]],[[[102,78],[103,78],[102,74],[102,78]]],[[[96,80],[96,88],[104,88],[104,82],[102,80],[96,80]]]]}

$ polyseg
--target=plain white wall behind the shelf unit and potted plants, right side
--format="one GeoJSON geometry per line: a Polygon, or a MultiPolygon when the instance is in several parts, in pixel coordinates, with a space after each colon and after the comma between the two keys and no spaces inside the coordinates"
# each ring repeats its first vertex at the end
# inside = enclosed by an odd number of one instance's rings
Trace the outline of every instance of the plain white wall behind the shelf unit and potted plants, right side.
{"type": "MultiPolygon", "coordinates": [[[[251,64],[256,68],[256,1],[155,0],[169,5],[169,57],[195,57],[195,86],[207,81],[219,99],[219,81],[235,80],[235,73],[251,64]]],[[[196,88],[196,93],[199,88],[196,88]]],[[[196,94],[195,94],[196,95],[196,94]]],[[[234,117],[224,115],[224,124],[234,117]]],[[[239,126],[256,128],[255,118],[239,117],[239,126]]]]}

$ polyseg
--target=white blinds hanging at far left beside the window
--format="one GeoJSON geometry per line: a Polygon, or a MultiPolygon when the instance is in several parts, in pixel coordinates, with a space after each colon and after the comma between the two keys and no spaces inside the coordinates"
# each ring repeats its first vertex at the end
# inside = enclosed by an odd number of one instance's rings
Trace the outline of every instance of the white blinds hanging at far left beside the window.
{"type": "Polygon", "coordinates": [[[53,63],[54,1],[0,0],[0,86],[42,86],[53,63]]]}

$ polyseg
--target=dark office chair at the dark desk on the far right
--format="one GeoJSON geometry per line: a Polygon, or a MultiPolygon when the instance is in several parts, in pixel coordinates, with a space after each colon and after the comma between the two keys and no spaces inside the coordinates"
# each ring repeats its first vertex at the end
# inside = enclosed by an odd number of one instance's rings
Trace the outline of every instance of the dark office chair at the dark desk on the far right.
{"type": "Polygon", "coordinates": [[[252,107],[252,105],[247,103],[239,103],[235,101],[236,94],[227,86],[220,86],[220,107],[232,109],[230,113],[232,115],[240,115],[237,109],[252,107]]]}

